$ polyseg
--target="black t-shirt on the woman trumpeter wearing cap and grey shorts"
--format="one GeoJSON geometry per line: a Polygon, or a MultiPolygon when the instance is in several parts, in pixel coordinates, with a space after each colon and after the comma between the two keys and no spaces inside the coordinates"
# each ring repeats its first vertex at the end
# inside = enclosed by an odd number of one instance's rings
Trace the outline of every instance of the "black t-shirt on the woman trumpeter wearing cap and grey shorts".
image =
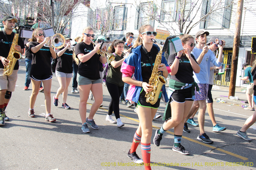
{"type": "MultiPolygon", "coordinates": [[[[56,53],[63,50],[65,47],[56,50],[56,53]]],[[[59,57],[57,56],[56,70],[63,73],[73,73],[73,63],[72,63],[73,51],[68,49],[59,57]]]]}

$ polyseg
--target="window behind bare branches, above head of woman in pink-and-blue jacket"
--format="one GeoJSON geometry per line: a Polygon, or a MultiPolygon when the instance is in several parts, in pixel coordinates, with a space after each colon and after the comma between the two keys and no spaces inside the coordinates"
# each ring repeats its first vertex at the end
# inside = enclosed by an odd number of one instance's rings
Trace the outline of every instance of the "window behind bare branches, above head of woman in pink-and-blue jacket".
{"type": "Polygon", "coordinates": [[[154,27],[154,15],[156,14],[156,5],[150,3],[140,3],[136,9],[135,29],[139,29],[141,25],[150,24],[154,27]]]}

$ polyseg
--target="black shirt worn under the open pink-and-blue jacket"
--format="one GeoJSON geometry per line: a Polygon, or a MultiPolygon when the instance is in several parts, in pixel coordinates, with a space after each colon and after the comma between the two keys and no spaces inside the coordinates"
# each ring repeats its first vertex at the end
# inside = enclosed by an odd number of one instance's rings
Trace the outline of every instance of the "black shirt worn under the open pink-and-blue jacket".
{"type": "MultiPolygon", "coordinates": [[[[158,50],[152,47],[151,52],[148,52],[148,55],[152,57],[152,64],[154,67],[154,63],[156,60],[156,55],[158,54],[158,50]]],[[[150,60],[148,56],[145,54],[143,47],[141,47],[141,75],[143,78],[143,82],[148,83],[152,74],[152,68],[150,64],[150,60]]]]}

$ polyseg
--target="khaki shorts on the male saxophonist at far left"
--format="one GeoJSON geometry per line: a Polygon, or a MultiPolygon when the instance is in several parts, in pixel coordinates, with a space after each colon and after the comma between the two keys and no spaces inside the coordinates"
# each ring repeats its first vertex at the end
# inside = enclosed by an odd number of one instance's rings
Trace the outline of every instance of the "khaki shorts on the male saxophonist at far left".
{"type": "Polygon", "coordinates": [[[13,70],[10,76],[3,75],[4,70],[0,69],[0,90],[5,90],[9,92],[14,92],[16,81],[18,78],[18,70],[13,70]]]}

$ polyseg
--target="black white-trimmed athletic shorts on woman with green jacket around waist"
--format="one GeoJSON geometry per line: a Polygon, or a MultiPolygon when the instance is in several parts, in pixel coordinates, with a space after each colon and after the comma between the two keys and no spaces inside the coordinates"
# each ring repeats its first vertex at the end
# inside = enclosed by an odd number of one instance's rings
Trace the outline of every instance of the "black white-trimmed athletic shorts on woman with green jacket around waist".
{"type": "Polygon", "coordinates": [[[171,95],[170,103],[172,103],[173,101],[176,101],[177,103],[184,103],[186,100],[194,101],[192,99],[191,89],[192,87],[175,90],[171,95]]]}

